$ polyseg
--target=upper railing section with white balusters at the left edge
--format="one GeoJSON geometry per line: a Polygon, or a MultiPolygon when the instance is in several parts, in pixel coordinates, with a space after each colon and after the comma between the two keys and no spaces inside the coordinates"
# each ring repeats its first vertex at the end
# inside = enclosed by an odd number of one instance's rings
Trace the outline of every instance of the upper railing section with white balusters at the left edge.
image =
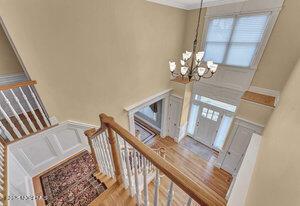
{"type": "Polygon", "coordinates": [[[36,81],[0,86],[0,136],[12,143],[50,127],[50,121],[33,91],[36,81]]]}

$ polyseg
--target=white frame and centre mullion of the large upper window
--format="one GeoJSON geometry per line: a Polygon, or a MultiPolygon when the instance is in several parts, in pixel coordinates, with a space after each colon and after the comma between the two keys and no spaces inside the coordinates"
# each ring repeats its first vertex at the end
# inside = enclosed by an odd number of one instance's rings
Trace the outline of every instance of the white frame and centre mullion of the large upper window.
{"type": "MultiPolygon", "coordinates": [[[[244,67],[244,66],[236,66],[236,65],[230,65],[230,64],[225,64],[225,63],[219,63],[220,66],[223,67],[228,67],[228,68],[234,68],[234,69],[238,69],[238,70],[249,70],[249,69],[256,69],[259,61],[263,55],[263,52],[265,50],[266,44],[268,42],[268,39],[271,35],[272,32],[272,28],[274,26],[274,11],[273,10],[267,10],[267,11],[256,11],[256,12],[243,12],[243,13],[232,13],[232,14],[220,14],[220,15],[212,15],[212,16],[205,16],[205,22],[204,22],[204,27],[203,27],[203,35],[202,35],[202,41],[201,41],[201,50],[205,51],[206,48],[206,44],[207,44],[207,33],[208,33],[208,29],[209,29],[209,23],[211,22],[211,20],[213,19],[218,19],[218,18],[233,18],[233,27],[231,30],[231,34],[230,34],[230,38],[229,38],[229,42],[227,43],[227,48],[225,51],[225,55],[224,55],[224,59],[223,62],[225,62],[227,60],[228,57],[228,51],[229,51],[229,47],[231,45],[231,39],[232,36],[234,34],[234,28],[236,26],[237,20],[240,17],[243,16],[258,16],[258,15],[267,15],[268,19],[267,19],[267,23],[266,23],[266,27],[264,30],[264,33],[262,35],[262,39],[259,43],[257,43],[257,47],[255,50],[255,53],[252,57],[250,66],[244,67]]],[[[277,15],[276,15],[277,18],[277,15]]]]}

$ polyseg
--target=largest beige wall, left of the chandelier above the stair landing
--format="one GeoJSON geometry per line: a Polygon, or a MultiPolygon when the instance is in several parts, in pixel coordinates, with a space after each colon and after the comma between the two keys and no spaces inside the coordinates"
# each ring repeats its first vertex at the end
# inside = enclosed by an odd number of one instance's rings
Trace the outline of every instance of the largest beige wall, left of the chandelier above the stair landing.
{"type": "Polygon", "coordinates": [[[0,14],[50,116],[99,124],[168,89],[186,11],[142,0],[10,0],[0,14]]]}

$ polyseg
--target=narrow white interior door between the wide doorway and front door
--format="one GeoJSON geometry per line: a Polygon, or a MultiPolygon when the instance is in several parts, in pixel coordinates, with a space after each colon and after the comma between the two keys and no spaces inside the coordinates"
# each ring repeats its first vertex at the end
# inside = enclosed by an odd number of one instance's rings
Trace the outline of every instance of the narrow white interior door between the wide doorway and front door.
{"type": "Polygon", "coordinates": [[[169,136],[173,138],[178,138],[179,136],[181,107],[182,100],[171,96],[169,105],[168,133],[169,136]]]}

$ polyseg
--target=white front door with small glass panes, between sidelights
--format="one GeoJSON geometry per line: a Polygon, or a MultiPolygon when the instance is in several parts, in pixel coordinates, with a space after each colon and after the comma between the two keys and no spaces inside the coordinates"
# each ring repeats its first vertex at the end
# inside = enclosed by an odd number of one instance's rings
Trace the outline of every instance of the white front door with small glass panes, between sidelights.
{"type": "Polygon", "coordinates": [[[194,138],[212,148],[222,116],[223,113],[221,109],[202,103],[200,105],[194,138]]]}

